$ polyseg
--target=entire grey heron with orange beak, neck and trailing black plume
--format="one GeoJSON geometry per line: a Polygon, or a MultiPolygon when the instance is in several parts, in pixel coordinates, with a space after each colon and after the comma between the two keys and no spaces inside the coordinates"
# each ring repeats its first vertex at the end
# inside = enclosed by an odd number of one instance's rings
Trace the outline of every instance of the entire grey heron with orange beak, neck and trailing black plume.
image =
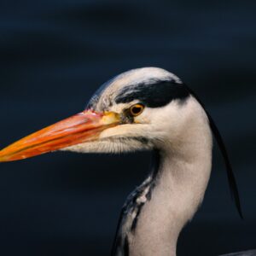
{"type": "Polygon", "coordinates": [[[157,67],[133,69],[110,79],[82,113],[3,148],[0,161],[55,150],[152,150],[154,165],[125,201],[112,253],[176,255],[179,233],[193,218],[207,189],[212,134],[224,155],[241,215],[236,180],[218,128],[193,91],[176,75],[157,67]]]}

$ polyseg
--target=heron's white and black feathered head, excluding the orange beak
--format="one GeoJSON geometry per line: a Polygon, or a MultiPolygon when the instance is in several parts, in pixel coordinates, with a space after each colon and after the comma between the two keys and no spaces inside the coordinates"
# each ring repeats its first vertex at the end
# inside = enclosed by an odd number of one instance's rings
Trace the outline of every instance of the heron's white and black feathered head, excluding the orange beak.
{"type": "Polygon", "coordinates": [[[188,123],[189,101],[188,88],[164,69],[143,67],[121,73],[102,84],[87,105],[96,113],[114,114],[119,123],[102,131],[96,141],[65,150],[120,153],[163,148],[188,123]]]}

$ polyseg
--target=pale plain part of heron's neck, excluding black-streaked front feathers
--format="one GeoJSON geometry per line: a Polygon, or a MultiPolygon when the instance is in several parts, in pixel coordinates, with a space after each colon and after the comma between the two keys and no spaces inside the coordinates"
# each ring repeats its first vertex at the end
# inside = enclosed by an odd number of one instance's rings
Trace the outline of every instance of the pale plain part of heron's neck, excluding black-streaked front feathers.
{"type": "Polygon", "coordinates": [[[212,166],[208,125],[160,151],[150,200],[138,218],[129,255],[176,255],[177,238],[203,200],[212,166]]]}

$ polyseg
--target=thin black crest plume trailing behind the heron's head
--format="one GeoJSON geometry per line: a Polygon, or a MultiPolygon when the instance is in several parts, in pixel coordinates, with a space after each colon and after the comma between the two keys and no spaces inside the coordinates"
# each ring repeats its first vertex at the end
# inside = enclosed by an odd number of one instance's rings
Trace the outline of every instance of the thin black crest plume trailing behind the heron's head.
{"type": "Polygon", "coordinates": [[[226,172],[227,172],[227,176],[228,176],[228,180],[229,180],[229,184],[230,184],[231,195],[235,199],[236,209],[237,209],[240,217],[243,218],[242,212],[241,212],[241,203],[240,203],[239,193],[238,193],[237,184],[236,184],[236,177],[234,175],[232,166],[230,164],[229,155],[228,155],[227,149],[224,145],[224,140],[223,140],[220,132],[218,131],[218,127],[215,125],[211,115],[207,112],[207,109],[205,108],[204,104],[199,100],[198,96],[195,95],[195,92],[193,90],[191,90],[187,85],[185,85],[185,86],[186,86],[187,90],[189,90],[189,93],[195,97],[195,99],[201,104],[202,108],[204,108],[205,112],[207,113],[207,117],[209,119],[209,124],[212,129],[212,133],[218,143],[218,148],[220,149],[220,152],[222,153],[223,158],[224,158],[224,164],[226,167],[226,172]]]}

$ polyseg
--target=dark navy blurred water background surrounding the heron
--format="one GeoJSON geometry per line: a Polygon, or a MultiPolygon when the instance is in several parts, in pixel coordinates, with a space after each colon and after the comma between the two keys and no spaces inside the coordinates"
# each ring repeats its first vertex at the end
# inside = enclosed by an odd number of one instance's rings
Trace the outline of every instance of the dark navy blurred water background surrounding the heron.
{"type": "MultiPolygon", "coordinates": [[[[98,86],[163,67],[195,90],[230,153],[244,220],[214,149],[177,255],[256,248],[256,2],[2,0],[0,147],[84,109],[98,86]]],[[[0,255],[108,255],[150,154],[55,153],[0,166],[0,255]]]]}

